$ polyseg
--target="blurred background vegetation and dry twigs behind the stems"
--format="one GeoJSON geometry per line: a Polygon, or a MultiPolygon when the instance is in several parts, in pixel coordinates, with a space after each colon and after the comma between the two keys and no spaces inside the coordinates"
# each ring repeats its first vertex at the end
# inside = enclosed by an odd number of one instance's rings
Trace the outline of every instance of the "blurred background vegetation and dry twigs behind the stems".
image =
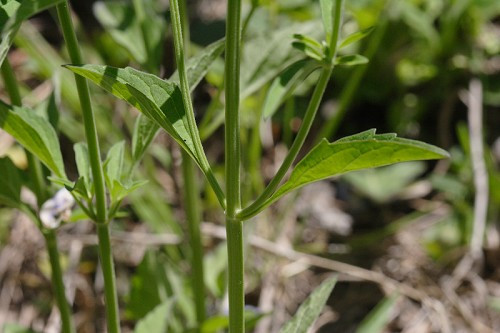
{"type": "MultiPolygon", "coordinates": [[[[72,4],[86,63],[153,73],[161,68],[156,74],[171,76],[175,57],[168,2],[144,3],[142,21],[132,2],[72,4]]],[[[225,1],[188,1],[193,54],[224,36],[225,8],[225,1]]],[[[251,17],[244,21],[241,73],[242,165],[248,189],[243,200],[249,202],[284,158],[317,77],[307,77],[277,107],[267,91],[302,54],[292,46],[293,33],[322,36],[317,1],[245,2],[243,17],[251,17]]],[[[23,104],[49,119],[57,115],[66,171],[75,179],[73,144],[85,137],[72,75],[61,67],[70,61],[55,18],[47,11],[24,22],[8,59],[23,104]]],[[[499,331],[500,3],[351,0],[344,20],[343,36],[373,27],[367,38],[341,50],[370,62],[335,68],[306,146],[322,137],[335,140],[377,128],[443,147],[451,158],[315,183],[245,225],[245,246],[252,248],[245,252],[247,325],[255,332],[277,332],[322,280],[338,272],[314,331],[499,331]],[[478,114],[482,128],[473,120],[478,114]],[[478,142],[484,154],[477,154],[478,142]],[[478,160],[484,170],[477,168],[478,160]],[[481,176],[487,176],[487,186],[478,183],[481,176]],[[477,245],[471,240],[478,239],[474,226],[481,223],[478,207],[484,204],[485,237],[481,232],[477,245]]],[[[222,60],[216,61],[193,95],[218,179],[224,174],[224,101],[217,89],[223,86],[223,69],[222,60]]],[[[8,101],[4,88],[0,97],[8,101]]],[[[137,110],[95,86],[91,91],[102,150],[121,140],[130,143],[137,110]]],[[[20,146],[5,132],[0,138],[0,155],[26,168],[20,146]]],[[[187,332],[195,326],[180,155],[170,137],[161,133],[155,138],[132,175],[148,183],[127,197],[112,225],[124,331],[153,333],[168,327],[187,332]],[[161,315],[165,312],[170,315],[161,315]],[[152,322],[155,331],[148,326],[152,322]]],[[[126,151],[126,159],[133,158],[126,151]]],[[[224,216],[213,191],[201,175],[198,179],[210,323],[204,332],[217,332],[227,326],[224,216]]],[[[0,221],[0,325],[6,332],[23,332],[22,327],[56,332],[59,312],[43,237],[16,210],[0,208],[0,221]]],[[[58,231],[79,332],[105,330],[93,228],[81,221],[58,231]]]]}

